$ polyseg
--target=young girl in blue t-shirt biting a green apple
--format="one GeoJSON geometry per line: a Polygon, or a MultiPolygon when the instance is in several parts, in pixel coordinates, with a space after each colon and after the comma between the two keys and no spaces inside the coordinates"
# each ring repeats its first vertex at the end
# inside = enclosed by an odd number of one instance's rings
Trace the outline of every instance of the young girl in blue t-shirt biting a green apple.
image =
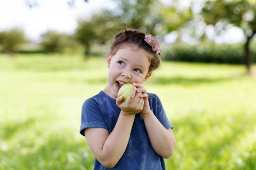
{"type": "Polygon", "coordinates": [[[159,66],[159,54],[159,42],[143,32],[125,29],[111,42],[108,85],[82,105],[80,133],[95,170],[165,170],[176,142],[173,126],[159,97],[142,85],[159,66]],[[118,90],[125,83],[137,89],[122,102],[118,90]]]}

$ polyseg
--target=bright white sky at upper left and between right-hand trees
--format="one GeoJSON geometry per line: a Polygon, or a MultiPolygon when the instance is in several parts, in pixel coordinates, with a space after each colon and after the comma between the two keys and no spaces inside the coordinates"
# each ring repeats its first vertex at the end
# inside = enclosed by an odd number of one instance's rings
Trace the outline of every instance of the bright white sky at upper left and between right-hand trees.
{"type": "MultiPolygon", "coordinates": [[[[39,42],[40,35],[47,30],[72,34],[77,28],[78,19],[90,20],[92,13],[102,8],[116,8],[111,0],[75,0],[73,7],[67,4],[70,0],[37,0],[38,6],[32,8],[26,5],[26,1],[0,0],[0,31],[21,28],[33,42],[39,42]]],[[[237,43],[245,40],[242,30],[237,27],[230,28],[222,36],[215,36],[213,26],[205,27],[207,36],[216,43],[237,43]]],[[[176,38],[177,32],[171,32],[164,37],[164,41],[173,43],[176,38]]],[[[182,40],[190,43],[196,41],[189,37],[186,30],[182,32],[182,40]]]]}

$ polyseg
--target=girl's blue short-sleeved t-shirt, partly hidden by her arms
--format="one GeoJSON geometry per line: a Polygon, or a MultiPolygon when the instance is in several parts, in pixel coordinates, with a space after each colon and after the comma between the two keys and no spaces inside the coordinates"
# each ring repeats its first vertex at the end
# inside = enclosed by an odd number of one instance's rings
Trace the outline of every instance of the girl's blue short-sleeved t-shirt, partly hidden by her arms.
{"type": "MultiPolygon", "coordinates": [[[[153,93],[148,94],[150,109],[166,128],[173,128],[168,121],[159,97],[153,93]]],[[[84,136],[85,128],[105,128],[109,133],[115,127],[120,114],[120,108],[115,99],[105,92],[100,91],[97,95],[84,101],[82,105],[82,117],[80,133],[84,136]]],[[[136,114],[128,145],[123,156],[113,170],[165,170],[164,158],[159,156],[152,148],[148,138],[143,118],[136,114]]],[[[94,170],[110,170],[100,164],[95,158],[94,170]]]]}

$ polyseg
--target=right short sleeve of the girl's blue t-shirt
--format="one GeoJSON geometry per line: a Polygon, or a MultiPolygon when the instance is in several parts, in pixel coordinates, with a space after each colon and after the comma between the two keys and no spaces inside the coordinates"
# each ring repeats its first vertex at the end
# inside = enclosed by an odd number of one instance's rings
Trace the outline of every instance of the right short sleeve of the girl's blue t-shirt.
{"type": "Polygon", "coordinates": [[[161,122],[161,124],[164,126],[164,128],[166,128],[166,129],[174,128],[172,123],[169,122],[169,120],[165,114],[164,107],[157,95],[156,95],[156,106],[157,106],[156,117],[161,122]]]}

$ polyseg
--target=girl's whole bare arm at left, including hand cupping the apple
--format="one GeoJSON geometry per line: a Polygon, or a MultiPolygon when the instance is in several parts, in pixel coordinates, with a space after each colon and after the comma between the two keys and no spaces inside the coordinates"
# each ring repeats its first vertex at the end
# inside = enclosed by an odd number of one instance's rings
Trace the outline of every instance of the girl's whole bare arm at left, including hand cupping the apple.
{"type": "Polygon", "coordinates": [[[87,128],[84,130],[87,144],[95,158],[105,167],[113,168],[123,156],[133,126],[135,115],[143,108],[144,100],[135,95],[136,88],[125,102],[123,96],[117,98],[116,102],[121,112],[113,131],[109,134],[104,128],[87,128]]]}

